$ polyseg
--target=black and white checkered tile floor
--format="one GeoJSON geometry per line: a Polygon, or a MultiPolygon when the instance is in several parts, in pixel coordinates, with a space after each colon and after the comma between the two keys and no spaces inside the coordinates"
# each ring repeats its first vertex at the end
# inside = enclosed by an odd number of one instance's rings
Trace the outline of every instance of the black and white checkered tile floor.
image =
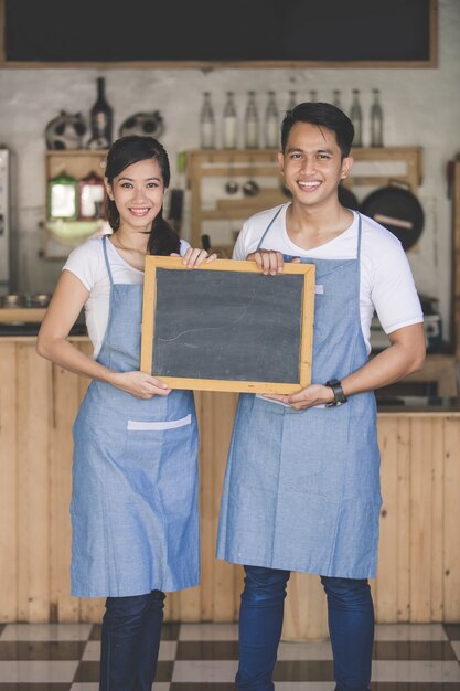
{"type": "MultiPolygon", "coordinates": [[[[97,691],[100,626],[0,624],[0,691],[97,691]]],[[[237,627],[165,624],[152,691],[233,691],[237,627]]],[[[460,624],[378,625],[372,691],[460,691],[460,624]]],[[[329,641],[281,642],[277,691],[332,691],[329,641]]]]}

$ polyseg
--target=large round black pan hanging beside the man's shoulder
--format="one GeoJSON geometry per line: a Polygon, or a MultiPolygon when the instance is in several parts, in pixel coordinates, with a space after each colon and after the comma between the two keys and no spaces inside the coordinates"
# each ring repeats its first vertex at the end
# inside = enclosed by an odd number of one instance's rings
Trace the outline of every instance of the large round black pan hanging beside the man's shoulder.
{"type": "Polygon", "coordinates": [[[366,196],[362,213],[391,231],[409,249],[421,235],[425,214],[417,196],[399,182],[392,182],[366,196]]]}

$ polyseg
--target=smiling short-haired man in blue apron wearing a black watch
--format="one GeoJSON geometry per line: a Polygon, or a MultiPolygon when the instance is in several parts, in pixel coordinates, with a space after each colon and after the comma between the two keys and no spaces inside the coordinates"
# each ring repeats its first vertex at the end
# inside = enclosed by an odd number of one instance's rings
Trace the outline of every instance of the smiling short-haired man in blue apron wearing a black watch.
{"type": "MultiPolygon", "coordinates": [[[[321,576],[336,691],[371,683],[379,453],[374,389],[422,366],[422,313],[399,241],[342,206],[353,125],[338,108],[286,114],[278,155],[292,201],[247,220],[234,249],[264,274],[317,266],[312,384],[243,394],[222,497],[217,556],[243,564],[240,690],[271,691],[290,571],[321,576]],[[368,360],[374,309],[389,347],[368,360]]],[[[274,333],[276,338],[276,333],[274,333]]]]}

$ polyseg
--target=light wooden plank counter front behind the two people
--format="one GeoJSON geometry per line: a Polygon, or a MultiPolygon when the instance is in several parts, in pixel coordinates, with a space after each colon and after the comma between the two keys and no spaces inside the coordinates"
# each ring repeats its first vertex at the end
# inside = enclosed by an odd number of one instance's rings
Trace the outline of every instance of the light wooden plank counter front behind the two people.
{"type": "MultiPolygon", "coordinates": [[[[74,339],[89,352],[86,338],[74,339]]],[[[35,353],[34,338],[0,339],[0,621],[94,621],[103,602],[69,596],[72,435],[87,381],[35,353]]],[[[236,394],[195,394],[201,434],[202,585],[167,598],[167,616],[233,621],[240,566],[214,557],[236,394]]],[[[460,620],[460,412],[378,416],[382,538],[373,583],[377,620],[460,620]]],[[[292,574],[285,639],[325,637],[317,576],[292,574]]]]}

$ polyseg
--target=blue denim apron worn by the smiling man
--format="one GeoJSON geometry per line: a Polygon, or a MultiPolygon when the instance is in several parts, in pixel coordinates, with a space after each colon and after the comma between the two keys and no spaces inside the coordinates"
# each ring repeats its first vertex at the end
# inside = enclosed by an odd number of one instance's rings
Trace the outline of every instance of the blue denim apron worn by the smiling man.
{"type": "MultiPolygon", "coordinates": [[[[355,259],[302,258],[317,267],[313,383],[341,380],[367,362],[360,255],[361,216],[355,259]]],[[[372,392],[350,396],[338,407],[306,411],[254,394],[239,396],[221,503],[220,559],[373,577],[381,503],[372,392]]]]}

